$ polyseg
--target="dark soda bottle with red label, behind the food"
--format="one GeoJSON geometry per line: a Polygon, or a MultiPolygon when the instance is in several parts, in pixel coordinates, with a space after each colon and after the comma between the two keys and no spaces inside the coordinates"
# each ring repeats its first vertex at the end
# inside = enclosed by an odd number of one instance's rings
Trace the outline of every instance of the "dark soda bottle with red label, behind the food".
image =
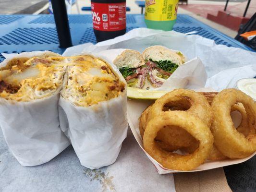
{"type": "Polygon", "coordinates": [[[91,0],[93,30],[97,42],[126,32],[126,0],[91,0]]]}

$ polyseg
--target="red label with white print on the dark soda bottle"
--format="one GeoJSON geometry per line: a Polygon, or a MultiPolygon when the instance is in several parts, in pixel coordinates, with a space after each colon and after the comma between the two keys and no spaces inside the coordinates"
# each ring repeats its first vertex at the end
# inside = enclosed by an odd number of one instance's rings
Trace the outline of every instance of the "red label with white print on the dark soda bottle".
{"type": "Polygon", "coordinates": [[[91,3],[93,28],[119,31],[126,28],[126,3],[91,3]]]}

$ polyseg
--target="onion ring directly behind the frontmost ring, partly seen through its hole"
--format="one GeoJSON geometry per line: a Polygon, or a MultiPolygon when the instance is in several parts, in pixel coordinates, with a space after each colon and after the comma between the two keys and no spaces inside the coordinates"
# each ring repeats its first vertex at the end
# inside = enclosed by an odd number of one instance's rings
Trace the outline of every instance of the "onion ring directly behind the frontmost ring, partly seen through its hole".
{"type": "MultiPolygon", "coordinates": [[[[139,123],[141,137],[145,126],[144,121],[150,120],[153,117],[160,116],[164,111],[170,110],[186,110],[187,113],[203,120],[208,127],[212,121],[212,111],[206,98],[199,93],[187,89],[177,89],[158,99],[155,104],[147,108],[141,116],[142,122],[139,123]],[[150,111],[150,113],[148,113],[150,111]]],[[[158,132],[156,137],[158,145],[164,147],[167,151],[176,151],[181,147],[189,147],[196,144],[196,140],[188,132],[175,126],[166,126],[158,132]],[[182,139],[181,139],[182,138],[182,139]]]]}

